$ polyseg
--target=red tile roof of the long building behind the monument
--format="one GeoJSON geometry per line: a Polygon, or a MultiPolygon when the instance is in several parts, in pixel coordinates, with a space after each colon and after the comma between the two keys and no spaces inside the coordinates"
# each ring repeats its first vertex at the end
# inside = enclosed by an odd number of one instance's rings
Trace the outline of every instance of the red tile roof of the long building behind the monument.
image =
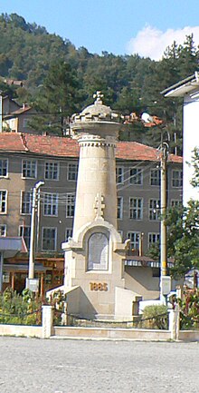
{"type": "MultiPolygon", "coordinates": [[[[0,133],[0,152],[32,152],[54,157],[78,157],[78,142],[59,136],[29,133],[0,133]]],[[[157,150],[137,142],[118,142],[116,158],[133,161],[157,161],[157,150]]],[[[180,156],[170,154],[169,161],[182,162],[180,156]]]]}

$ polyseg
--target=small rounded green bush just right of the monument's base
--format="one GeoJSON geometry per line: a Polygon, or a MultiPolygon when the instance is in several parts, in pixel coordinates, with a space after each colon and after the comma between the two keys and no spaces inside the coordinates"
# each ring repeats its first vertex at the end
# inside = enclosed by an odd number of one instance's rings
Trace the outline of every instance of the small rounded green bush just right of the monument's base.
{"type": "Polygon", "coordinates": [[[144,325],[146,328],[167,329],[167,306],[164,304],[146,306],[142,319],[147,319],[144,325]]]}

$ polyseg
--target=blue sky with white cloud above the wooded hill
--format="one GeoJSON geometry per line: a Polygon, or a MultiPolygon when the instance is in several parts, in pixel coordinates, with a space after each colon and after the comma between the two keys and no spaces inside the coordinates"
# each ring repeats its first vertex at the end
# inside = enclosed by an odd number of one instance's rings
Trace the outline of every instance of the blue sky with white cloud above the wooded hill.
{"type": "Polygon", "coordinates": [[[199,44],[199,0],[0,0],[0,13],[23,16],[91,54],[160,60],[188,34],[199,44]]]}

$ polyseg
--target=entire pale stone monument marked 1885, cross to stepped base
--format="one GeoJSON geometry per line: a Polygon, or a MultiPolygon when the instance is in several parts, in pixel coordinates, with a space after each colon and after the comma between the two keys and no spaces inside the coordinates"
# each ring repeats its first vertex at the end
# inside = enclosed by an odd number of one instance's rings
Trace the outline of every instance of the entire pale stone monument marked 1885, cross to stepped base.
{"type": "Polygon", "coordinates": [[[68,312],[85,318],[130,318],[135,294],[125,290],[126,244],[117,231],[115,149],[119,116],[102,103],[71,118],[80,145],[72,238],[65,253],[64,291],[68,312]]]}

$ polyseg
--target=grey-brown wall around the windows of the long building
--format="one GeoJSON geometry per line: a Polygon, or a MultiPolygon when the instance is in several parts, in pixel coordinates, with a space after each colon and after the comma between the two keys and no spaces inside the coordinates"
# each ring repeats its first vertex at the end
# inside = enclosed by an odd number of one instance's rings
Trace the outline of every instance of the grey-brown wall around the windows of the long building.
{"type": "MultiPolygon", "coordinates": [[[[22,193],[33,192],[33,186],[36,182],[43,180],[44,185],[40,188],[40,217],[38,221],[38,230],[36,233],[37,251],[49,251],[52,254],[62,252],[62,241],[67,240],[67,235],[71,236],[74,196],[76,189],[76,174],[78,168],[77,158],[60,158],[33,155],[30,152],[1,152],[0,160],[7,160],[7,174],[0,178],[0,191],[6,191],[6,211],[0,212],[0,225],[6,225],[7,236],[18,236],[22,234],[22,227],[29,227],[31,224],[31,206],[28,211],[28,203],[26,211],[22,211],[22,193]],[[24,163],[35,162],[35,173],[33,176],[22,175],[22,165],[24,163]],[[50,179],[46,178],[46,173],[50,179]],[[57,175],[56,175],[57,173],[57,175]],[[51,179],[51,177],[55,179],[51,179]],[[57,177],[57,179],[56,179],[57,177]],[[46,194],[50,195],[50,201],[46,207],[46,194]],[[52,198],[52,199],[51,199],[52,198]],[[54,200],[53,200],[54,198],[54,200]],[[51,201],[55,201],[51,203],[51,201]],[[54,205],[54,206],[53,206],[54,205]],[[44,211],[46,207],[47,211],[44,211]],[[66,212],[67,211],[67,212],[66,212]],[[68,217],[67,217],[68,215],[68,217]],[[19,230],[21,227],[21,233],[19,230]],[[43,230],[44,229],[44,230],[43,230]],[[46,239],[43,248],[43,231],[48,238],[48,229],[52,235],[55,235],[55,245],[52,250],[52,242],[46,239]]],[[[151,170],[156,171],[156,162],[133,162],[133,161],[117,161],[117,168],[123,168],[122,182],[118,182],[118,197],[123,201],[121,209],[121,218],[118,219],[118,231],[121,231],[123,241],[128,237],[128,232],[136,233],[136,237],[143,235],[143,251],[147,251],[148,234],[156,238],[159,234],[159,221],[150,220],[148,217],[150,200],[158,201],[160,198],[159,185],[151,185],[151,170]],[[131,169],[140,168],[142,170],[141,184],[131,183],[131,169]],[[141,218],[130,218],[129,199],[141,199],[143,203],[143,215],[141,218]]],[[[33,168],[32,168],[33,169],[33,168]]],[[[168,184],[167,199],[168,205],[171,201],[181,201],[182,187],[173,187],[172,173],[173,171],[181,172],[181,164],[168,162],[168,184]]],[[[29,173],[30,174],[30,173],[29,173]]],[[[31,198],[31,195],[30,195],[31,198]]],[[[132,202],[132,201],[131,201],[132,202]]],[[[158,206],[156,206],[158,210],[158,206]]],[[[155,209],[155,213],[156,213],[155,209]]],[[[132,211],[132,209],[131,209],[132,211]]],[[[137,212],[137,209],[136,209],[137,212]]],[[[134,214],[134,213],[132,213],[134,214]]],[[[131,244],[131,248],[138,250],[137,241],[131,244]]]]}

